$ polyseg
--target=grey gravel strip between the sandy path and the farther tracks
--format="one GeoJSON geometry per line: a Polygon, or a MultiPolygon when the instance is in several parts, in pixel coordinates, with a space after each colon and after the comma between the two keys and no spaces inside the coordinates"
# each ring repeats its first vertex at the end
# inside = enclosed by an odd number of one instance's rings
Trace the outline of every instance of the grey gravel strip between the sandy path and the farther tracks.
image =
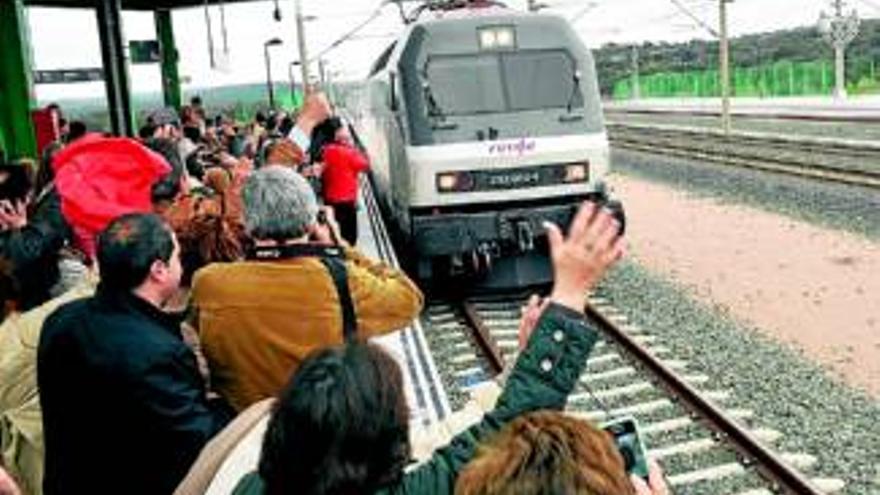
{"type": "Polygon", "coordinates": [[[619,149],[612,152],[612,170],[880,239],[876,189],[619,149]]]}

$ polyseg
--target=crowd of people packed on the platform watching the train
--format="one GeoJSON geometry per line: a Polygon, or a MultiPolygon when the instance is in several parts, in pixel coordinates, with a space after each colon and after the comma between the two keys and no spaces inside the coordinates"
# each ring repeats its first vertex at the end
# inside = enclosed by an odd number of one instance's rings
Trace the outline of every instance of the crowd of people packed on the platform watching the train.
{"type": "Polygon", "coordinates": [[[494,409],[410,469],[401,370],[369,339],[423,296],[356,248],[369,164],[326,97],[82,131],[0,166],[0,494],[204,493],[247,441],[259,463],[227,492],[666,493],[560,412],[597,339],[586,294],[624,250],[608,212],[547,225],[553,290],[494,409]]]}

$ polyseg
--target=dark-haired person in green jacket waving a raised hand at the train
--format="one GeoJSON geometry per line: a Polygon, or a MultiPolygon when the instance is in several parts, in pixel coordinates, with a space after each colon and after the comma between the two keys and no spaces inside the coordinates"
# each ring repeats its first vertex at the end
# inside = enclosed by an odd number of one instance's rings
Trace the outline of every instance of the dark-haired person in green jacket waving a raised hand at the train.
{"type": "MultiPolygon", "coordinates": [[[[540,314],[524,319],[526,344],[501,396],[425,463],[404,472],[411,446],[399,366],[381,348],[353,342],[316,352],[293,374],[272,408],[259,468],[233,494],[452,494],[459,472],[490,436],[524,414],[565,406],[598,339],[584,318],[586,296],[623,254],[618,228],[592,203],[580,209],[567,237],[547,225],[553,290],[540,314]]],[[[625,473],[618,473],[618,486],[632,489],[625,473]]]]}

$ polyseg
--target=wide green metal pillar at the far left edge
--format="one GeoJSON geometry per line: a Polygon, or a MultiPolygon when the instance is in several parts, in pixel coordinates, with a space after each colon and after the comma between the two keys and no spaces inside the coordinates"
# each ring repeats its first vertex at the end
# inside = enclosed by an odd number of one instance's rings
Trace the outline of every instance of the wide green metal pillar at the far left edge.
{"type": "Polygon", "coordinates": [[[22,0],[0,0],[0,47],[0,143],[7,158],[36,158],[30,37],[22,0]]]}

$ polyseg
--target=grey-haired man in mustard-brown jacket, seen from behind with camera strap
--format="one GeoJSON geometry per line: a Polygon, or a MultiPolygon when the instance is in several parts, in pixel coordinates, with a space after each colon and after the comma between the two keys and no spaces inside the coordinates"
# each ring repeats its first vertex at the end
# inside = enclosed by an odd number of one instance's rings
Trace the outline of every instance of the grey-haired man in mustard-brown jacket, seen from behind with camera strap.
{"type": "Polygon", "coordinates": [[[239,411],[275,396],[312,350],[403,328],[423,303],[404,273],[336,244],[292,169],[254,172],[242,197],[254,249],[199,270],[192,290],[212,385],[239,411]]]}

